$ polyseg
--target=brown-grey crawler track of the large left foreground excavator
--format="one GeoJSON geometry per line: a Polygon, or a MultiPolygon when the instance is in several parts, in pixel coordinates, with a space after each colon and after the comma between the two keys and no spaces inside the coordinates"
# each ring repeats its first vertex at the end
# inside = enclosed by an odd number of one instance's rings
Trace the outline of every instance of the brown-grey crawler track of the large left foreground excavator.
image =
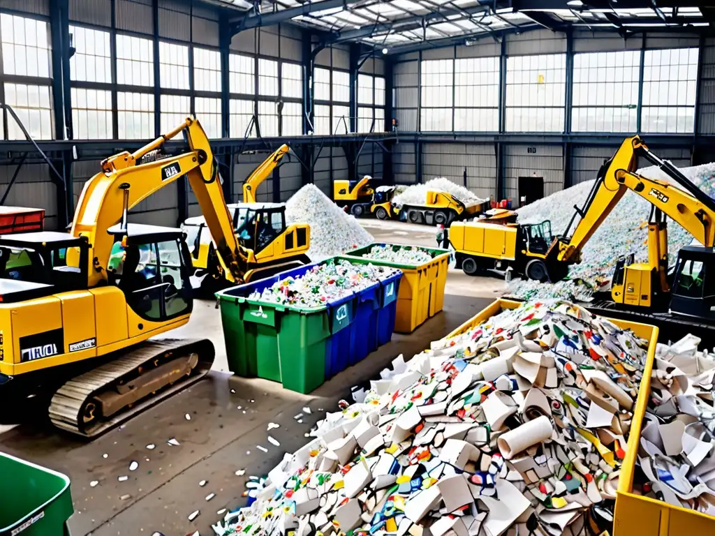
{"type": "Polygon", "coordinates": [[[214,361],[208,339],[157,339],[65,382],[52,397],[52,424],[96,437],[204,377],[214,361]]]}

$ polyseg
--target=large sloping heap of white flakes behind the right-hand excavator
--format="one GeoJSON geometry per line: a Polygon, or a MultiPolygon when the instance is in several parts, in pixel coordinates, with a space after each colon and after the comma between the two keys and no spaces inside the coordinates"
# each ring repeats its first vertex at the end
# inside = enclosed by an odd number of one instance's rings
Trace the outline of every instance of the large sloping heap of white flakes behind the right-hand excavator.
{"type": "MultiPolygon", "coordinates": [[[[715,163],[684,167],[680,171],[706,194],[713,197],[715,163]]],[[[669,180],[656,167],[639,169],[638,174],[651,179],[669,180]]],[[[576,184],[518,209],[516,211],[518,221],[536,223],[549,219],[551,232],[554,235],[566,233],[568,222],[576,212],[573,206],[583,207],[583,202],[586,201],[594,182],[595,180],[576,184]]],[[[591,295],[592,289],[608,290],[618,257],[634,253],[636,262],[648,260],[648,218],[651,207],[652,205],[638,194],[626,192],[601,227],[586,242],[581,253],[581,264],[573,264],[569,267],[570,281],[552,285],[517,279],[511,285],[510,294],[523,299],[546,297],[583,299],[591,295]]],[[[571,226],[571,233],[576,222],[571,226]]],[[[692,237],[685,229],[668,219],[668,252],[671,264],[674,264],[678,250],[691,244],[691,241],[692,237]]]]}

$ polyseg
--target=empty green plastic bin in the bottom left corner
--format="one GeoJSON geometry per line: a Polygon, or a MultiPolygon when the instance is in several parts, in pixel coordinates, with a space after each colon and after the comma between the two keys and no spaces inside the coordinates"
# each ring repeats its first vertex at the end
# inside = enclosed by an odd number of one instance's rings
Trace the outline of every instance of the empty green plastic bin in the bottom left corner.
{"type": "Polygon", "coordinates": [[[69,478],[0,452],[0,536],[69,536],[69,478]]]}

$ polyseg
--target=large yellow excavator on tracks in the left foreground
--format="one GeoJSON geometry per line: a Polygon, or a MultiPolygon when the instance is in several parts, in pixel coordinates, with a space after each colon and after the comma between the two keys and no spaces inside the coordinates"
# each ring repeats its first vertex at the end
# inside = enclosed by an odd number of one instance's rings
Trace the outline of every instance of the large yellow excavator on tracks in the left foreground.
{"type": "Polygon", "coordinates": [[[132,207],[184,176],[222,267],[242,282],[255,254],[235,235],[206,134],[187,118],[137,152],[104,160],[84,185],[71,232],[0,236],[4,399],[48,397],[56,427],[93,437],[209,371],[207,339],[147,341],[189,321],[184,233],[127,222],[132,207]],[[185,152],[147,162],[182,133],[185,152]]]}

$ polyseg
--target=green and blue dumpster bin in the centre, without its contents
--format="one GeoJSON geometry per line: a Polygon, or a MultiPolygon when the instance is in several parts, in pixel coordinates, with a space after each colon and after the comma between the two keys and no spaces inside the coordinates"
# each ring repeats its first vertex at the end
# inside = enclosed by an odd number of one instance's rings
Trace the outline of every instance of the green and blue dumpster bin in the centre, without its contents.
{"type": "MultiPolygon", "coordinates": [[[[286,389],[305,394],[376,348],[370,326],[381,306],[376,302],[382,282],[312,308],[250,297],[286,277],[301,277],[313,267],[306,264],[217,292],[228,365],[234,374],[282,382],[286,389]],[[363,344],[353,344],[358,337],[365,339],[363,344]]],[[[400,272],[391,274],[385,283],[399,284],[400,277],[400,272]]]]}

